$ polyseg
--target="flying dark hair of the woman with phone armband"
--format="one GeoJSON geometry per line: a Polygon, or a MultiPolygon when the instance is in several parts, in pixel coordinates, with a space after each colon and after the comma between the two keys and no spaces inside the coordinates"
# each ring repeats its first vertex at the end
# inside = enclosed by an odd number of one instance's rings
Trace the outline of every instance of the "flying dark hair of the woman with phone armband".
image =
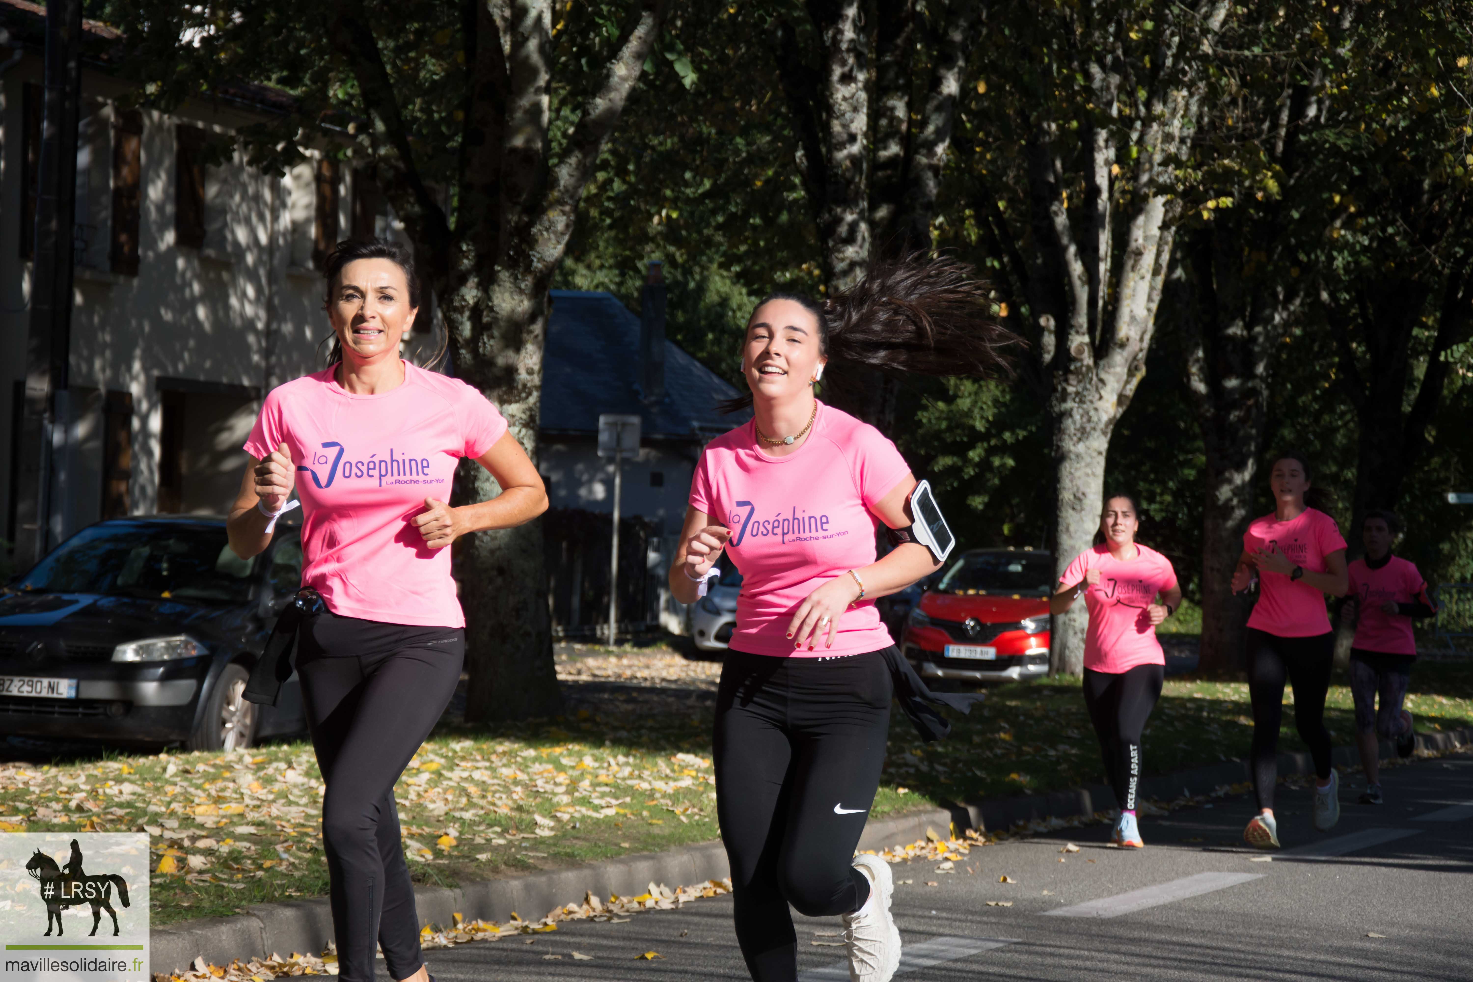
{"type": "MultiPolygon", "coordinates": [[[[924,252],[871,266],[859,283],[826,300],[769,293],[753,308],[792,300],[819,325],[819,352],[831,365],[865,365],[922,375],[1008,372],[1005,347],[1022,339],[993,314],[991,287],[950,256],[924,252]]],[[[840,377],[843,372],[840,374],[840,377]]],[[[825,377],[825,384],[843,386],[825,377]]],[[[751,393],[720,403],[723,412],[751,405],[751,393]]]]}

